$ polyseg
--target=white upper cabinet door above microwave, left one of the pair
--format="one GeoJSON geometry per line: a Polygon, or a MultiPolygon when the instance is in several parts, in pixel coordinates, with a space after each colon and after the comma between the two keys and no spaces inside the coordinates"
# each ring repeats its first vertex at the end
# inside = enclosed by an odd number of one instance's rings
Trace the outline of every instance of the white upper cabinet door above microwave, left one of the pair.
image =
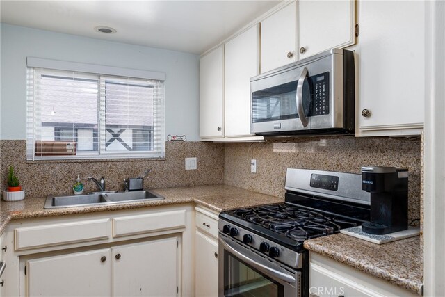
{"type": "Polygon", "coordinates": [[[296,2],[261,22],[261,73],[296,61],[296,2]]]}

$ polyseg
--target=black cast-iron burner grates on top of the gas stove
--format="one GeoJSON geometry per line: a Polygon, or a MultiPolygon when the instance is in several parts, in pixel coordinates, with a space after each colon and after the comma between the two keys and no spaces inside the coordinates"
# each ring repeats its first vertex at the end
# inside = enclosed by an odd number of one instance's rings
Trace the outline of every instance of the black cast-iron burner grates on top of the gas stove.
{"type": "Polygon", "coordinates": [[[345,218],[330,216],[289,204],[236,209],[233,214],[238,218],[284,234],[296,241],[334,234],[338,233],[341,228],[357,226],[357,223],[345,218]]]}

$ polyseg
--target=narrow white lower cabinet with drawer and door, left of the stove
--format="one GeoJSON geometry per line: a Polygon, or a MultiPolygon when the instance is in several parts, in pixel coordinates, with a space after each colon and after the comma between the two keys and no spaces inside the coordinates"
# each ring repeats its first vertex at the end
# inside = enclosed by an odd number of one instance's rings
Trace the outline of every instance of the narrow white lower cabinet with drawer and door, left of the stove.
{"type": "Polygon", "coordinates": [[[218,296],[218,214],[195,207],[195,296],[218,296]]]}

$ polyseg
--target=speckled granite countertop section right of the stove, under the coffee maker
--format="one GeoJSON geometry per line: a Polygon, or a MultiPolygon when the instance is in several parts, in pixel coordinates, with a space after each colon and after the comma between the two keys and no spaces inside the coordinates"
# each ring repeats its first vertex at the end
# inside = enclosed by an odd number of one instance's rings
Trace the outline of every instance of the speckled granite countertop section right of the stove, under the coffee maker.
{"type": "Polygon", "coordinates": [[[420,245],[419,236],[382,245],[346,234],[305,241],[305,248],[311,252],[422,295],[423,254],[420,245]]]}

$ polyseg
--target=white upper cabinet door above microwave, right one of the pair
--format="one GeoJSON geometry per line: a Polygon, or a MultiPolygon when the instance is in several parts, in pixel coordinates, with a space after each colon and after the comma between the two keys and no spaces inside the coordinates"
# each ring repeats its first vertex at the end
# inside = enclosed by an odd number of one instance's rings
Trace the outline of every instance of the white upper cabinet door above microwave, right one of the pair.
{"type": "Polygon", "coordinates": [[[298,3],[300,59],[355,43],[355,0],[298,3]]]}

